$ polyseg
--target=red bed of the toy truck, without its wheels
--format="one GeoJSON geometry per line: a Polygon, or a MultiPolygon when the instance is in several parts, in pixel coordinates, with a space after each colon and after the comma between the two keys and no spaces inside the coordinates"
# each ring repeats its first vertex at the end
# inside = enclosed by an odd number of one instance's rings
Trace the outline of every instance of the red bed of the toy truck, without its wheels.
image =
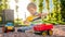
{"type": "Polygon", "coordinates": [[[40,25],[34,26],[34,30],[36,32],[42,32],[42,30],[48,30],[52,28],[53,28],[52,24],[40,24],[40,25]]]}

